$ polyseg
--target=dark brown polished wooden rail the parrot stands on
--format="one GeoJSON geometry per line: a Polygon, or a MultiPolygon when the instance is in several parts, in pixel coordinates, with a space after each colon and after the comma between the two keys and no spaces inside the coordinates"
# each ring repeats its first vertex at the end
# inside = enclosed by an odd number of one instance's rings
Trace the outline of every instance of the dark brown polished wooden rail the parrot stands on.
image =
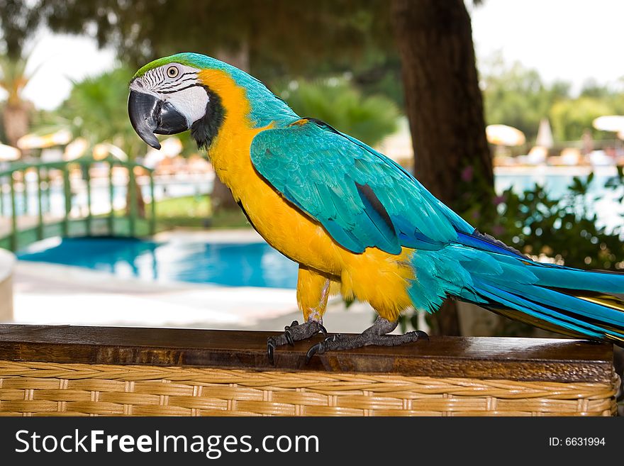
{"type": "Polygon", "coordinates": [[[435,337],[394,348],[368,347],[313,357],[321,337],[276,350],[258,331],[184,328],[0,325],[0,360],[84,364],[228,367],[252,370],[376,372],[427,377],[605,382],[613,346],[585,340],[435,337]]]}

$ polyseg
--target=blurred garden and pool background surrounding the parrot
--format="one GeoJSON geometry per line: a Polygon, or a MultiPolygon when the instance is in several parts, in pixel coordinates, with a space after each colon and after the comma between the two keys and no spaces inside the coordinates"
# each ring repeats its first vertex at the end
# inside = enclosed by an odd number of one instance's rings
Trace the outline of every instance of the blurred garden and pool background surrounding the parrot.
{"type": "MultiPolygon", "coordinates": [[[[135,135],[128,82],[174,52],[262,79],[538,260],[624,268],[624,4],[0,0],[0,320],[279,330],[296,265],[188,135],[135,135]]],[[[291,319],[291,320],[289,320],[291,319]]],[[[330,331],[362,331],[330,302],[330,331]]],[[[544,335],[448,301],[401,330],[544,335]]]]}

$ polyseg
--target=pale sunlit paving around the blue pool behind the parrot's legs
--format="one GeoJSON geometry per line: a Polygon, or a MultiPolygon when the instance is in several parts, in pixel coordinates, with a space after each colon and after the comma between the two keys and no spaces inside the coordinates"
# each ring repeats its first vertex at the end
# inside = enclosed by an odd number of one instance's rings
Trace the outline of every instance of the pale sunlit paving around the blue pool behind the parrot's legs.
{"type": "MultiPolygon", "coordinates": [[[[262,241],[252,230],[160,233],[157,240],[250,243],[262,241]]],[[[120,278],[82,267],[18,261],[13,278],[17,323],[167,326],[279,331],[301,321],[294,289],[221,287],[120,278]]],[[[330,301],[325,326],[331,332],[367,328],[374,311],[356,303],[345,310],[330,301]]]]}

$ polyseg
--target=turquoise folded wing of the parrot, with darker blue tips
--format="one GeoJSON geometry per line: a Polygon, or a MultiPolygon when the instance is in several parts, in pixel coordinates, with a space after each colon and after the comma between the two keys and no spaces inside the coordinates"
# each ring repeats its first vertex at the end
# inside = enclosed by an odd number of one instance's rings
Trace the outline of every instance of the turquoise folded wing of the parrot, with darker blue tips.
{"type": "Polygon", "coordinates": [[[389,158],[324,123],[304,119],[262,131],[255,169],[353,253],[438,250],[474,228],[389,158]]]}

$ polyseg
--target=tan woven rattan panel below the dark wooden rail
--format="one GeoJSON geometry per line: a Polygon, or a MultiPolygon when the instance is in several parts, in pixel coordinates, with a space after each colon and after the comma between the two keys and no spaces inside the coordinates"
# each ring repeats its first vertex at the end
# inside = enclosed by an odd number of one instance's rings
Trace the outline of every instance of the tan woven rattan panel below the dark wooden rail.
{"type": "Polygon", "coordinates": [[[3,360],[0,414],[611,416],[617,383],[3,360]]]}

